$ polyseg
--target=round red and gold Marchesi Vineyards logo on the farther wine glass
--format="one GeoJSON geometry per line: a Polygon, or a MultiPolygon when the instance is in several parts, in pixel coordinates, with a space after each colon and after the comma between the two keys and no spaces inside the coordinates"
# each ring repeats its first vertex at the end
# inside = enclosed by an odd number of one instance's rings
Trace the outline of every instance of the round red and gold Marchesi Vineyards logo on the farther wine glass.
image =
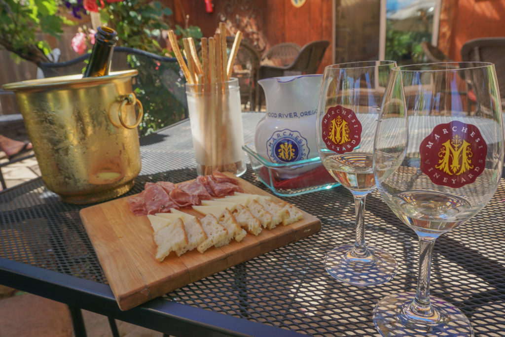
{"type": "Polygon", "coordinates": [[[351,109],[332,106],[321,121],[321,137],[326,147],[336,153],[352,151],[361,142],[362,126],[351,109]]]}

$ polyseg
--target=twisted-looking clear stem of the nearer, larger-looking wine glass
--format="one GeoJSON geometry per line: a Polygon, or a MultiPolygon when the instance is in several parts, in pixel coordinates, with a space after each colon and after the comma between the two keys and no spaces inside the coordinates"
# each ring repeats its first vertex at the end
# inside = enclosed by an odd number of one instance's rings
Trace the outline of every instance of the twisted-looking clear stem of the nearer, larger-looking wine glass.
{"type": "Polygon", "coordinates": [[[419,238],[419,274],[417,280],[416,297],[407,308],[407,314],[432,317],[437,315],[430,303],[430,272],[431,257],[435,240],[419,238]]]}

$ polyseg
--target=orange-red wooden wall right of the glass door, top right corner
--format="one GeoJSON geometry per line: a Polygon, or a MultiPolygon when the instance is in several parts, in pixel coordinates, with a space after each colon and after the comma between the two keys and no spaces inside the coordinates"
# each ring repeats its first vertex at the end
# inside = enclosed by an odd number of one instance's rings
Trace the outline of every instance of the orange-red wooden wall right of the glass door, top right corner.
{"type": "Polygon", "coordinates": [[[505,36],[505,0],[443,1],[442,16],[448,22],[441,22],[440,49],[452,60],[461,61],[461,47],[468,40],[505,36]]]}

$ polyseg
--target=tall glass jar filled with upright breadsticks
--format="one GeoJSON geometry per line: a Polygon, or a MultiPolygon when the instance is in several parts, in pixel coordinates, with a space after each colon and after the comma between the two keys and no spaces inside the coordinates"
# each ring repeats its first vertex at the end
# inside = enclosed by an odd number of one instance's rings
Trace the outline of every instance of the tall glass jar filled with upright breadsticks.
{"type": "Polygon", "coordinates": [[[187,65],[174,31],[169,31],[172,50],[189,84],[189,119],[196,162],[203,175],[216,169],[236,173],[243,160],[243,137],[234,139],[234,129],[242,127],[236,122],[240,116],[233,116],[241,113],[240,95],[238,99],[231,97],[228,88],[242,32],[237,31],[228,57],[225,23],[220,23],[219,31],[213,37],[201,38],[201,61],[193,39],[182,39],[187,65]]]}

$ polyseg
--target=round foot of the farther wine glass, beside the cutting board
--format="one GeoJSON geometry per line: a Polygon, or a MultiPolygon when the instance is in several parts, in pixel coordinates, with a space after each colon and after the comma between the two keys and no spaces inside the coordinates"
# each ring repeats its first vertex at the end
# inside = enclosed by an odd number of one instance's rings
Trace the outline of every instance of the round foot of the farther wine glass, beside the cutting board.
{"type": "Polygon", "coordinates": [[[398,264],[385,250],[367,246],[369,254],[356,258],[349,254],[353,247],[343,245],[326,254],[324,266],[331,276],[355,286],[373,286],[385,283],[396,275],[398,264]]]}

